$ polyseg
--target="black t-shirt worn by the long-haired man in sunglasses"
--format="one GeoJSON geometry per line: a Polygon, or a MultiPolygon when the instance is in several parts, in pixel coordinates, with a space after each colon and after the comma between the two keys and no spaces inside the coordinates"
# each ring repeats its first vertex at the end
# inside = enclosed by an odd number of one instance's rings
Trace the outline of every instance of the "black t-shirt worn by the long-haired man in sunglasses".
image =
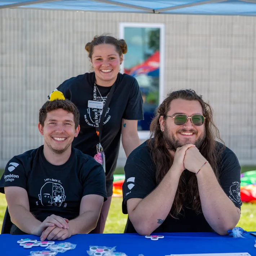
{"type": "MultiPolygon", "coordinates": [[[[216,142],[216,146],[223,146],[216,142]]],[[[130,198],[145,198],[156,187],[155,164],[150,155],[150,149],[145,141],[128,156],[124,167],[125,182],[123,184],[123,213],[127,214],[127,200],[130,198]]],[[[228,147],[225,147],[221,161],[218,164],[220,185],[236,207],[242,205],[240,199],[240,165],[237,157],[228,147]]],[[[185,170],[184,172],[189,172],[185,170]]],[[[214,193],[214,191],[213,191],[214,193]]],[[[186,202],[184,202],[186,203],[186,202]]],[[[188,203],[187,203],[188,204],[188,203]]],[[[203,216],[203,213],[185,208],[182,215],[175,219],[168,215],[163,224],[154,232],[211,232],[213,231],[203,216]]],[[[124,233],[136,233],[128,217],[124,233]]]]}

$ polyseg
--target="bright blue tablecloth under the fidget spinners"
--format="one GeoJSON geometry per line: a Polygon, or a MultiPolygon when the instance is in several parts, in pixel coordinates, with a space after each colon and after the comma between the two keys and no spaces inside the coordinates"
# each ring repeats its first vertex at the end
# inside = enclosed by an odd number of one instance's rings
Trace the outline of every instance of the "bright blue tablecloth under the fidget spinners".
{"type": "MultiPolygon", "coordinates": [[[[160,235],[160,234],[158,234],[160,235]]],[[[84,234],[74,235],[66,242],[76,244],[74,250],[58,253],[57,256],[87,256],[89,246],[116,246],[116,251],[125,252],[128,256],[165,256],[179,253],[230,253],[248,252],[256,256],[254,247],[256,237],[247,233],[245,238],[234,239],[231,236],[220,236],[216,233],[162,233],[164,239],[152,241],[138,234],[84,234]]],[[[32,247],[24,249],[17,241],[24,235],[0,235],[0,256],[27,256],[30,251],[43,251],[45,248],[32,247]]],[[[34,235],[26,238],[37,239],[34,235]]],[[[59,241],[56,241],[59,242],[59,241]]]]}

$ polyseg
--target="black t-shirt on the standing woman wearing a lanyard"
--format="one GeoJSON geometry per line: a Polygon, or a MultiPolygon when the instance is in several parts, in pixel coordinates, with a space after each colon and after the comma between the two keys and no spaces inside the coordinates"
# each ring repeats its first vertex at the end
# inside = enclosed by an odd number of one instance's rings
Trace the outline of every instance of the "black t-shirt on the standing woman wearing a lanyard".
{"type": "MultiPolygon", "coordinates": [[[[72,146],[92,157],[97,153],[99,137],[96,134],[94,112],[88,107],[88,100],[93,100],[94,72],[85,73],[64,81],[57,88],[66,99],[71,100],[80,112],[80,132],[74,138],[72,146]]],[[[111,87],[97,85],[97,101],[106,100],[111,87]]],[[[104,103],[105,104],[105,103],[104,103]]],[[[101,109],[98,109],[101,116],[101,109]]],[[[127,74],[118,74],[115,91],[112,95],[103,122],[101,145],[106,156],[107,195],[112,195],[113,173],[118,158],[122,118],[128,120],[143,119],[143,100],[137,80],[127,74]]]]}

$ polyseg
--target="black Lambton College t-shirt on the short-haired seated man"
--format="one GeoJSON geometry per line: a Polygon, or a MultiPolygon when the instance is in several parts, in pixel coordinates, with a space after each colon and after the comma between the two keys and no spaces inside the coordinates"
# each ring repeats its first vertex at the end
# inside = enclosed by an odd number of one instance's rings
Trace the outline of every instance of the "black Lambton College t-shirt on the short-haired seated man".
{"type": "MultiPolygon", "coordinates": [[[[103,167],[91,156],[72,148],[65,164],[53,165],[45,159],[43,149],[40,146],[26,151],[8,162],[0,180],[1,193],[9,186],[26,189],[30,212],[40,221],[52,214],[74,219],[79,216],[85,195],[97,194],[107,199],[103,167]]],[[[17,233],[15,227],[13,233],[17,233]]]]}

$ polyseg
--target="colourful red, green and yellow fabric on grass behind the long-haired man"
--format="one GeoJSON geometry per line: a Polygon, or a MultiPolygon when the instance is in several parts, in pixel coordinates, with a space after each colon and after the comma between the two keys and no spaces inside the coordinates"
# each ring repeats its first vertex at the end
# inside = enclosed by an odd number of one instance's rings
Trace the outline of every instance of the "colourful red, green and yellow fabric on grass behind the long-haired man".
{"type": "MultiPolygon", "coordinates": [[[[114,175],[113,197],[122,197],[122,185],[124,174],[114,175]]],[[[244,203],[256,203],[256,171],[248,171],[241,174],[241,200],[244,203]]]]}

